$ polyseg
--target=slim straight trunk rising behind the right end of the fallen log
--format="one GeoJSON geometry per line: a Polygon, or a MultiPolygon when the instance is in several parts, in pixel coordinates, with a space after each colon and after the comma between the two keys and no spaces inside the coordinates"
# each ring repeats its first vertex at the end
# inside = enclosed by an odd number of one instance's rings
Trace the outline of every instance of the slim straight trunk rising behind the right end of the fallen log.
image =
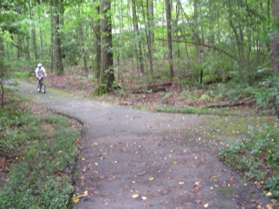
{"type": "Polygon", "coordinates": [[[172,53],[172,0],[165,0],[166,4],[166,19],[167,19],[167,36],[168,36],[168,62],[169,62],[169,71],[170,78],[174,77],[173,70],[173,53],[172,53]]]}

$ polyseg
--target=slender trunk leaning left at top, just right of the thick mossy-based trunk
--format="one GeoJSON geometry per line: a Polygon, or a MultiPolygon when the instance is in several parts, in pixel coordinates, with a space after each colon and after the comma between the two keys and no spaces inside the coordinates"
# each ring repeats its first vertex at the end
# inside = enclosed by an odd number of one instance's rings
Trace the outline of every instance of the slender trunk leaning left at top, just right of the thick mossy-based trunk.
{"type": "Polygon", "coordinates": [[[142,53],[142,43],[141,43],[141,37],[140,37],[140,31],[139,31],[139,25],[138,25],[138,16],[137,16],[137,5],[136,0],[132,0],[132,13],[133,13],[133,26],[134,26],[134,32],[136,34],[136,56],[137,56],[137,62],[139,63],[139,70],[140,73],[144,74],[144,62],[143,62],[143,53],[142,53]]]}

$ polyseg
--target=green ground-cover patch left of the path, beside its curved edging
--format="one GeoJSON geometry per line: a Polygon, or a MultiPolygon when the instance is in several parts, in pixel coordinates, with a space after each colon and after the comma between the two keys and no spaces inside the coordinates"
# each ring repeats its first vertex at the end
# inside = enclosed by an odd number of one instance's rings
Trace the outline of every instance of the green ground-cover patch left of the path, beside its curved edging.
{"type": "Polygon", "coordinates": [[[80,131],[62,116],[34,115],[22,103],[10,98],[0,109],[0,156],[12,161],[0,192],[0,208],[69,208],[80,131]]]}

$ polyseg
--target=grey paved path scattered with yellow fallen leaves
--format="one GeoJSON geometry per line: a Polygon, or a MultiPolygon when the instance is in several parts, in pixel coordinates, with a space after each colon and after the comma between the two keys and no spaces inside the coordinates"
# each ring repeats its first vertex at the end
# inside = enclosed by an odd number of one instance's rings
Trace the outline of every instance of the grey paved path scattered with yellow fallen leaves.
{"type": "Polygon", "coordinates": [[[216,152],[198,143],[202,117],[150,113],[34,86],[20,91],[84,123],[76,191],[88,191],[75,209],[246,209],[265,201],[242,185],[216,152]]]}

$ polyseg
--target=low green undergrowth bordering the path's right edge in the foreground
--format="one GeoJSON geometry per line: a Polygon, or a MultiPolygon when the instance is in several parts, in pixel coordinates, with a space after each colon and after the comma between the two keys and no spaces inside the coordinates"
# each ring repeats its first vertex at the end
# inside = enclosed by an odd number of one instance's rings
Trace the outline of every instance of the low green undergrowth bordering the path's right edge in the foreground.
{"type": "Polygon", "coordinates": [[[279,199],[279,128],[265,125],[252,130],[248,139],[225,148],[220,158],[246,178],[279,199]]]}

